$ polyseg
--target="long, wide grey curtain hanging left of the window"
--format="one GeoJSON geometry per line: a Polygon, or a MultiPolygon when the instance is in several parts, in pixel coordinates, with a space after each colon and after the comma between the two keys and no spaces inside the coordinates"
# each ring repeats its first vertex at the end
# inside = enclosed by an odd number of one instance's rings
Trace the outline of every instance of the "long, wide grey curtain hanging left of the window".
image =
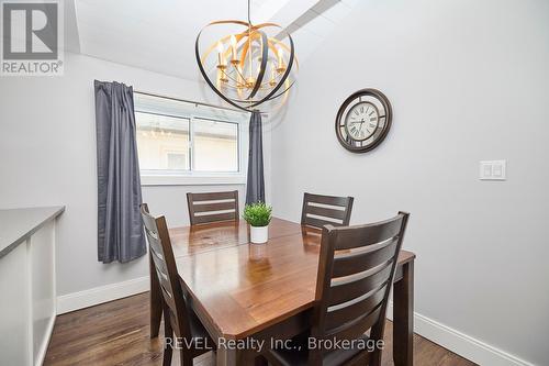
{"type": "Polygon", "coordinates": [[[130,262],[147,249],[139,213],[141,178],[133,89],[96,80],[98,260],[130,262]]]}

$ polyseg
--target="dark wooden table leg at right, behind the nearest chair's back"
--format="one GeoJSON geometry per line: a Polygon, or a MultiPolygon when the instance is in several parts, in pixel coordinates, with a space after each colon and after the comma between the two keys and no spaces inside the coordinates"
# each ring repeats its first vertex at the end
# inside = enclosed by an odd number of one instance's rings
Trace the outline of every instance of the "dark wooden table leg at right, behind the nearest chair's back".
{"type": "Polygon", "coordinates": [[[393,287],[393,359],[395,366],[414,365],[414,262],[403,265],[393,287]]]}

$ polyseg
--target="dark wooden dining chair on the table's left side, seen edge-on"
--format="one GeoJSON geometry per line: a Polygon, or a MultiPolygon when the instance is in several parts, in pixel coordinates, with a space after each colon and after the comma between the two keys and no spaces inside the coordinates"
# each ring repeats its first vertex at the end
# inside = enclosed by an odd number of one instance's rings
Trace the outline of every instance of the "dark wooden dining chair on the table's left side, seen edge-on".
{"type": "Polygon", "coordinates": [[[165,350],[163,366],[171,364],[175,346],[180,351],[181,365],[191,366],[193,358],[212,351],[214,343],[183,293],[166,219],[164,217],[155,219],[150,215],[146,203],[141,206],[141,213],[164,299],[165,350]]]}

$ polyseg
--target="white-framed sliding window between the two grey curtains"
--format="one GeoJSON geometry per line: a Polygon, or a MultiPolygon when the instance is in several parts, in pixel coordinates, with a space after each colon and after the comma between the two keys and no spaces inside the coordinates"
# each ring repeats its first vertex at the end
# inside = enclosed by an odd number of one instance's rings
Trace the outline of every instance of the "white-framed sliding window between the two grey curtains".
{"type": "Polygon", "coordinates": [[[135,92],[143,185],[243,184],[244,112],[135,92]]]}

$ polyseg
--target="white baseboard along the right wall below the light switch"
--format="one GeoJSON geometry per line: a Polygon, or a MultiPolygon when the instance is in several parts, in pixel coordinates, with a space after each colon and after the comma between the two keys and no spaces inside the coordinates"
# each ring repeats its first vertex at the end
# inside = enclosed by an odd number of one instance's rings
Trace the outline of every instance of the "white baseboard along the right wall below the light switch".
{"type": "MultiPolygon", "coordinates": [[[[393,304],[386,318],[393,319],[393,304]]],[[[414,332],[481,366],[535,366],[433,319],[414,313],[414,332]]]]}

